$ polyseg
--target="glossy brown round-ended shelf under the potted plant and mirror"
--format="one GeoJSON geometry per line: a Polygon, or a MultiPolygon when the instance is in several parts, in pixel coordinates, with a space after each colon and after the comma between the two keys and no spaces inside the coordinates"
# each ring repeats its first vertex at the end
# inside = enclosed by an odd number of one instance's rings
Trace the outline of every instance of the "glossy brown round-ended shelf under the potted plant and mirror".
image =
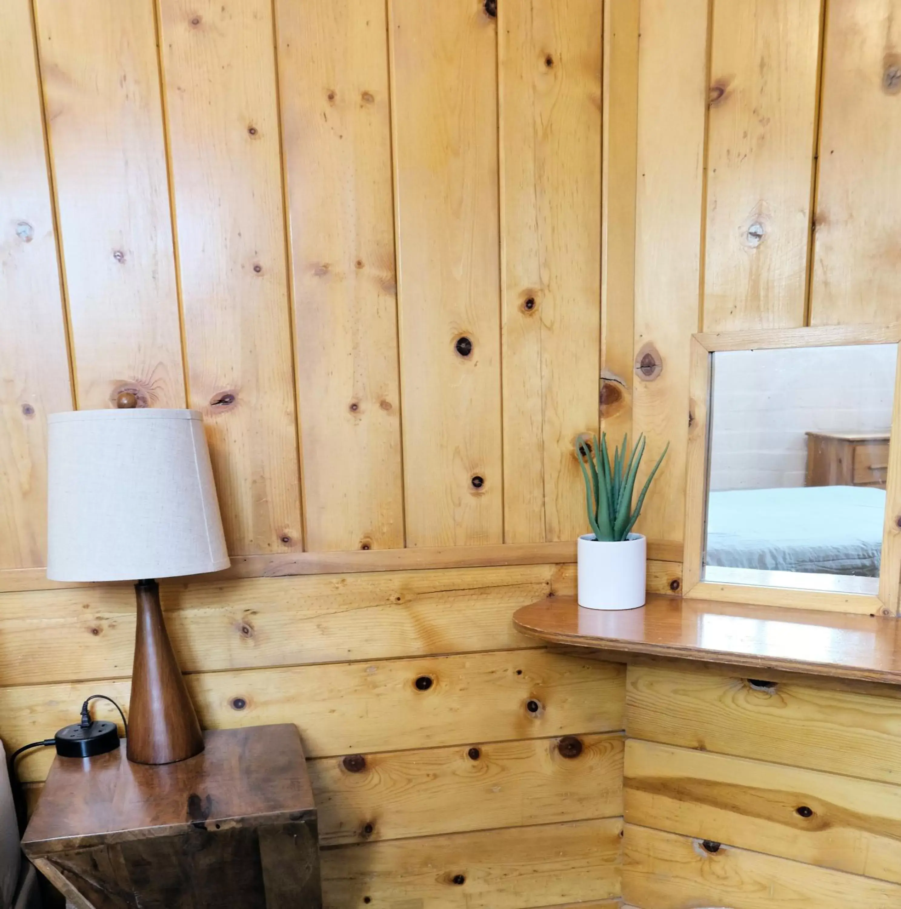
{"type": "Polygon", "coordinates": [[[513,621],[554,644],[901,684],[901,632],[883,616],[654,595],[640,609],[603,612],[552,596],[513,621]]]}

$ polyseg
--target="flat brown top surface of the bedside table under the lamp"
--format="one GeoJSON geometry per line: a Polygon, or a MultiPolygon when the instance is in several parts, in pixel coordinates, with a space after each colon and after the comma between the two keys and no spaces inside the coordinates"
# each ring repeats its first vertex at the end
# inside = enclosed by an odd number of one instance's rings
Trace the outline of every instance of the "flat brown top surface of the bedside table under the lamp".
{"type": "Polygon", "coordinates": [[[178,764],[130,764],[125,744],[57,757],[22,842],[25,854],[315,817],[300,735],[290,724],[204,733],[178,764]]]}

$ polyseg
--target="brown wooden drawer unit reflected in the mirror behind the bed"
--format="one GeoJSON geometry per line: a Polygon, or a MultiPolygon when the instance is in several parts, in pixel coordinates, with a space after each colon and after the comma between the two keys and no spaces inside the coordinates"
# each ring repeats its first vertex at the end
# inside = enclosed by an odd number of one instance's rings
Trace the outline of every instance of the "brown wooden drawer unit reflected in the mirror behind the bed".
{"type": "Polygon", "coordinates": [[[807,486],[886,488],[889,430],[807,433],[807,486]]]}

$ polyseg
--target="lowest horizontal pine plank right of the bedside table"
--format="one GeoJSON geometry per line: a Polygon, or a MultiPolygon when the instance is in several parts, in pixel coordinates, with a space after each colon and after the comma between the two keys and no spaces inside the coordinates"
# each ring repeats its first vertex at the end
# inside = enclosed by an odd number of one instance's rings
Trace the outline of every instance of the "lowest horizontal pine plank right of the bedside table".
{"type": "Polygon", "coordinates": [[[619,894],[620,818],[322,853],[325,909],[529,909],[619,894]]]}

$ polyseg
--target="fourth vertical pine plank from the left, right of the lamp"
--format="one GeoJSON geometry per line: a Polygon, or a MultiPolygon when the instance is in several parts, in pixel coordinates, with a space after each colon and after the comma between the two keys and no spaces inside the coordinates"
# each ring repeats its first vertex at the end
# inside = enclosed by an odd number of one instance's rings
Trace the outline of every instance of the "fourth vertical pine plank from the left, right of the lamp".
{"type": "Polygon", "coordinates": [[[385,3],[276,4],[306,548],[404,545],[385,3]]]}

